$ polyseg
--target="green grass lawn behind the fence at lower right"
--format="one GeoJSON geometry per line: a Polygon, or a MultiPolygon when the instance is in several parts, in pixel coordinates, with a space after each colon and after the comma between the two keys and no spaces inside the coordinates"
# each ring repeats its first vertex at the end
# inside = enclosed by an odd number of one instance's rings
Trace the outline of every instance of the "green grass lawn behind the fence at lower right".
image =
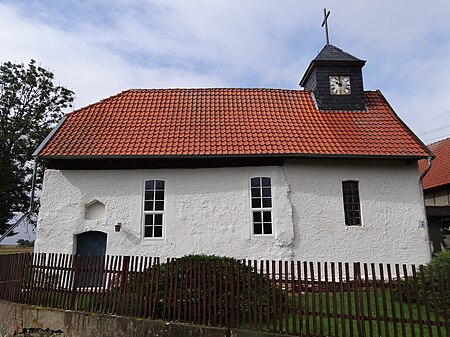
{"type": "MultiPolygon", "coordinates": [[[[393,321],[385,321],[384,317],[393,319],[394,315],[397,319],[400,318],[400,312],[403,310],[403,316],[405,320],[410,318],[410,315],[413,319],[419,319],[419,311],[422,320],[426,320],[427,314],[426,309],[424,307],[419,307],[416,304],[412,304],[411,308],[408,309],[408,305],[406,303],[400,303],[397,299],[394,298],[393,306],[391,303],[391,296],[389,292],[386,292],[386,305],[383,305],[382,295],[380,291],[377,291],[375,294],[373,291],[370,291],[369,298],[367,298],[367,294],[363,293],[362,299],[358,298],[358,309],[359,312],[366,317],[377,316],[377,303],[378,303],[378,316],[380,316],[380,323],[377,323],[376,319],[372,319],[371,323],[369,320],[361,320],[358,322],[356,319],[341,318],[339,315],[341,313],[349,314],[352,312],[353,315],[356,315],[356,299],[355,293],[343,293],[344,305],[341,306],[340,303],[340,294],[336,294],[336,300],[333,301],[333,296],[330,295],[328,299],[329,308],[327,309],[327,301],[324,295],[322,295],[322,307],[319,306],[319,296],[315,295],[315,301],[313,302],[312,294],[302,295],[301,302],[302,308],[304,311],[307,311],[306,301],[308,302],[309,312],[312,313],[313,307],[316,312],[316,317],[313,318],[311,314],[302,314],[300,319],[299,315],[297,317],[293,317],[292,315],[286,317],[283,314],[283,320],[280,322],[276,321],[275,325],[271,322],[269,325],[266,325],[266,329],[269,331],[277,331],[277,332],[290,332],[294,331],[294,321],[296,331],[301,334],[308,335],[324,335],[324,336],[360,336],[361,332],[365,332],[366,336],[370,336],[370,325],[372,325],[372,335],[373,336],[394,336],[395,330],[397,330],[397,335],[402,336],[403,333],[406,336],[412,336],[414,333],[416,336],[420,336],[421,326],[418,323],[411,324],[409,322],[406,323],[394,323],[393,321]],[[350,300],[350,301],[349,301],[350,300]],[[362,302],[361,302],[362,300],[362,302]],[[315,303],[315,305],[314,305],[315,303]],[[350,305],[349,305],[350,303],[350,305]],[[351,311],[350,311],[351,307],[351,311]],[[317,313],[330,314],[330,317],[319,317],[317,313]],[[370,315],[369,315],[370,312],[370,315]],[[334,317],[334,314],[338,316],[338,318],[334,317]],[[288,319],[288,329],[286,329],[286,318],[288,319]],[[280,324],[281,323],[281,324],[280,324]],[[359,327],[358,327],[359,325],[359,327]],[[322,326],[322,328],[320,328],[322,326]]],[[[295,305],[298,308],[299,305],[299,297],[296,295],[295,297],[290,297],[289,306],[292,308],[293,302],[295,300],[295,305]]],[[[432,321],[436,320],[435,314],[433,312],[429,313],[430,319],[432,321]]],[[[443,325],[443,318],[438,317],[443,325]]],[[[422,326],[423,335],[428,336],[429,327],[426,323],[422,326]]],[[[446,335],[445,327],[441,326],[441,334],[442,336],[446,335]]],[[[438,336],[438,327],[431,327],[431,335],[438,336]]]]}

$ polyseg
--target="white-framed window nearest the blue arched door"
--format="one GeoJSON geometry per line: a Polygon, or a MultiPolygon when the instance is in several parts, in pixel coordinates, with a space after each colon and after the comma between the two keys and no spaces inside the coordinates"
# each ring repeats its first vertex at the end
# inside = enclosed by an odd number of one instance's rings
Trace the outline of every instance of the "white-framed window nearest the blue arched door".
{"type": "Polygon", "coordinates": [[[164,236],[164,180],[146,180],[144,183],[144,238],[164,236]]]}

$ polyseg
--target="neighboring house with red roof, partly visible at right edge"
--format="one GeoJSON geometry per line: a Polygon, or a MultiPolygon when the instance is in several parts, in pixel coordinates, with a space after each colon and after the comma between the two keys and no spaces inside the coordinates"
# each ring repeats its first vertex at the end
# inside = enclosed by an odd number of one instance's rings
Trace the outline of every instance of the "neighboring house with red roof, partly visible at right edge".
{"type": "MultiPolygon", "coordinates": [[[[433,252],[450,249],[450,138],[428,145],[436,158],[423,179],[426,212],[433,252]]],[[[419,162],[421,171],[427,167],[419,162]]]]}

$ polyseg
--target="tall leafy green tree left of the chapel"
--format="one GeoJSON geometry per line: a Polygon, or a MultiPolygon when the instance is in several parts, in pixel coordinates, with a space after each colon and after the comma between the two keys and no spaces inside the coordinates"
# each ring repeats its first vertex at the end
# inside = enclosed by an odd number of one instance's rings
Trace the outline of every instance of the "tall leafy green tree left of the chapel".
{"type": "MultiPolygon", "coordinates": [[[[74,93],[55,85],[54,75],[36,65],[0,64],[0,234],[16,213],[29,208],[32,153],[44,140],[74,93]]],[[[40,168],[36,187],[42,184],[40,168]]],[[[35,216],[30,216],[33,221],[35,216]]]]}

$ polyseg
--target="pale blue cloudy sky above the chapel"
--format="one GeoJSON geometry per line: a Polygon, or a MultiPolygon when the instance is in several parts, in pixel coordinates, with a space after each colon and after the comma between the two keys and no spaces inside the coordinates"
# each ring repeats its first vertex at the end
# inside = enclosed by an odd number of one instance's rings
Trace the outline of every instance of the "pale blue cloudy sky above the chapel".
{"type": "Polygon", "coordinates": [[[74,108],[129,88],[300,89],[324,7],[365,89],[426,143],[450,137],[448,0],[0,0],[0,62],[35,59],[74,108]]]}

